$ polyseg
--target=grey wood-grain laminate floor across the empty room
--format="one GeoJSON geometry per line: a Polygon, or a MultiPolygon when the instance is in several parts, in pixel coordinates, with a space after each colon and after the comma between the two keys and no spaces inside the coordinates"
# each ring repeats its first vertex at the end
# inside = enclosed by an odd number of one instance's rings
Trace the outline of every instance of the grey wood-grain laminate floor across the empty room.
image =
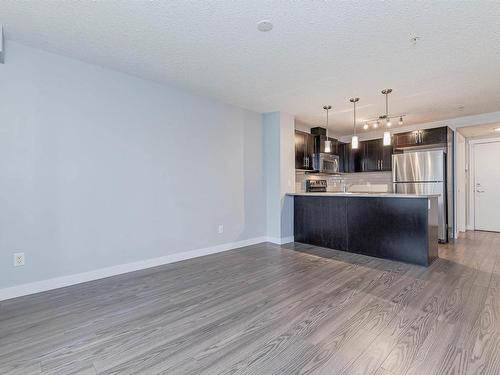
{"type": "Polygon", "coordinates": [[[260,244],[0,303],[0,374],[500,374],[500,234],[260,244]]]}

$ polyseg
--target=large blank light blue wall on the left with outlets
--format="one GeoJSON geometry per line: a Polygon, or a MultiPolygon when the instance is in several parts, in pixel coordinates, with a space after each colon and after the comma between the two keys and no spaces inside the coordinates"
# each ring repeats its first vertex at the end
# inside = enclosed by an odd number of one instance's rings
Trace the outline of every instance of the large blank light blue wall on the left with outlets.
{"type": "Polygon", "coordinates": [[[263,139],[258,113],[9,42],[0,288],[265,236],[263,139]]]}

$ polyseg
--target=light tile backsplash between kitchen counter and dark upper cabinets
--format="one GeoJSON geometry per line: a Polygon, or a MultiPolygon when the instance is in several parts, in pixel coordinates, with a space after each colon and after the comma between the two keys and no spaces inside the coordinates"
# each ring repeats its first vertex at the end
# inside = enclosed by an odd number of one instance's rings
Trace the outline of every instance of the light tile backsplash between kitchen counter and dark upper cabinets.
{"type": "Polygon", "coordinates": [[[392,173],[391,172],[361,172],[344,173],[340,175],[295,172],[295,192],[306,191],[306,180],[326,180],[328,191],[343,191],[344,186],[350,191],[366,192],[391,192],[392,173]]]}

